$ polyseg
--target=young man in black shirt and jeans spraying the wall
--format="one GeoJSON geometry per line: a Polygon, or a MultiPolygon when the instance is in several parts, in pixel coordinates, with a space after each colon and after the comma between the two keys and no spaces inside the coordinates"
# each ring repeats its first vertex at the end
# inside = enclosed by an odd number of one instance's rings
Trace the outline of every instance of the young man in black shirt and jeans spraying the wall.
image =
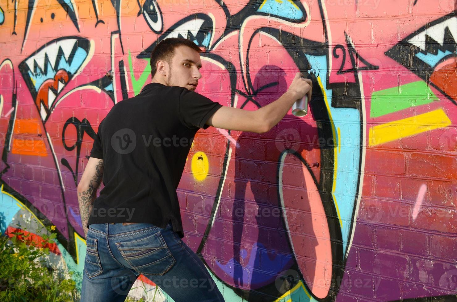
{"type": "Polygon", "coordinates": [[[168,38],[151,53],[152,82],[115,104],[99,125],[78,185],[86,236],[81,301],[124,301],[143,274],[175,302],[223,301],[184,237],[176,194],[191,143],[209,126],[269,131],[312,82],[297,73],[279,99],[255,111],[222,106],[195,92],[200,48],[168,38]],[[103,179],[105,187],[96,198],[103,179]]]}

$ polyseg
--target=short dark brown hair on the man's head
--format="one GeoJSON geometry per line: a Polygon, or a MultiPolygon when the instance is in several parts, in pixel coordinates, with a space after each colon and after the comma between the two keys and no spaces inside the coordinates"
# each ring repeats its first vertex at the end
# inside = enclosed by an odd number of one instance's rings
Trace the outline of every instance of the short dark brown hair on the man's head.
{"type": "Polygon", "coordinates": [[[191,47],[197,52],[202,52],[200,47],[197,46],[194,42],[184,38],[166,38],[165,40],[160,41],[151,52],[151,60],[149,65],[151,66],[151,75],[154,78],[157,69],[155,65],[157,61],[166,61],[170,64],[171,58],[175,54],[175,48],[181,45],[191,47]]]}

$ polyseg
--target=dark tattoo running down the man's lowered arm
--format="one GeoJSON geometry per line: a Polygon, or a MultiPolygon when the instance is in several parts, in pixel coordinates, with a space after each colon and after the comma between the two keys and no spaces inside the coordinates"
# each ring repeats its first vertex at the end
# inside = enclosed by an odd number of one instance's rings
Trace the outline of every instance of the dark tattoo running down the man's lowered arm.
{"type": "Polygon", "coordinates": [[[87,222],[94,205],[97,189],[103,176],[103,160],[98,161],[95,167],[95,173],[87,187],[78,186],[78,203],[80,205],[81,222],[83,224],[84,234],[87,235],[87,222]]]}

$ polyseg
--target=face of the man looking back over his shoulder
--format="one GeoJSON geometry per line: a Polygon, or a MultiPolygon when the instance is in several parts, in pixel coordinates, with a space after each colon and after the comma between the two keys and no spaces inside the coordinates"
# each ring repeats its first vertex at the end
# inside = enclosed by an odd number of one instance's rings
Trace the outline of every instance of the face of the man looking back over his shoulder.
{"type": "Polygon", "coordinates": [[[169,86],[185,87],[195,91],[198,79],[202,78],[200,54],[190,47],[181,45],[175,48],[168,69],[167,83],[169,86]]]}

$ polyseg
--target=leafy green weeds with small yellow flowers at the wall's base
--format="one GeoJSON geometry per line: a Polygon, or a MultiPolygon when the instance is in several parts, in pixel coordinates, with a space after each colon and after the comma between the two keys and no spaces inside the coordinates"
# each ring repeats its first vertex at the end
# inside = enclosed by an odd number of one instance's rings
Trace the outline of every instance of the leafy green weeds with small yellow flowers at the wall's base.
{"type": "Polygon", "coordinates": [[[55,226],[46,229],[38,242],[27,231],[0,235],[0,301],[78,301],[75,272],[47,266],[57,235],[55,226]]]}

